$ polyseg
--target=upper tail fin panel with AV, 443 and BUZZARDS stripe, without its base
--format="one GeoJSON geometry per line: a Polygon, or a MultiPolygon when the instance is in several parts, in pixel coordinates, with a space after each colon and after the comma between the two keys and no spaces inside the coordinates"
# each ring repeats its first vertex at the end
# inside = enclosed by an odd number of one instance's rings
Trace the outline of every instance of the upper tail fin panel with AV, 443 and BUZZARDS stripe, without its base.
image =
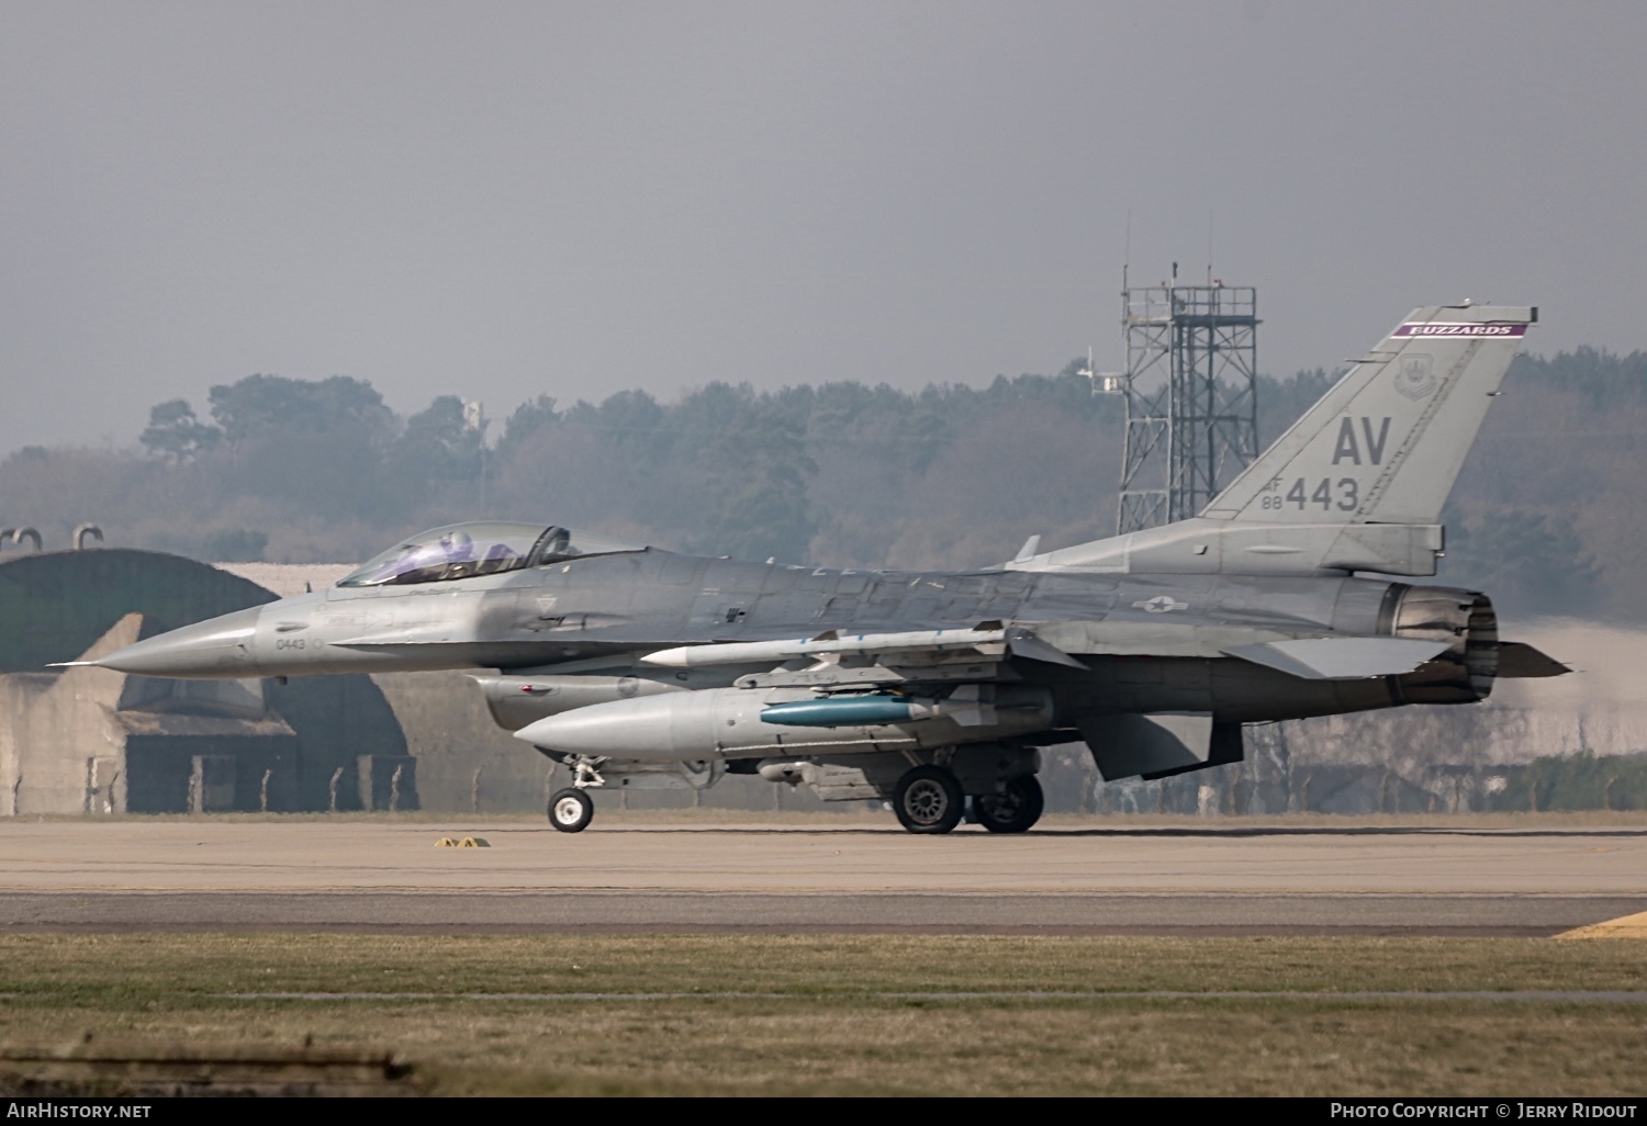
{"type": "Polygon", "coordinates": [[[1528,306],[1413,309],[1202,517],[1436,523],[1527,326],[1528,306]]]}

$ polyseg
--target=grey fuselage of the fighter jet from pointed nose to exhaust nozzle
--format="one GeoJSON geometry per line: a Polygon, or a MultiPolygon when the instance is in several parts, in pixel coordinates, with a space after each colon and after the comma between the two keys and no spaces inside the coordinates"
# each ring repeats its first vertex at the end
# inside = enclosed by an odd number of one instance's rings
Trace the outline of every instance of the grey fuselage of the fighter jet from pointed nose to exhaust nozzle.
{"type": "MultiPolygon", "coordinates": [[[[1388,579],[858,571],[646,548],[418,586],[336,586],[140,642],[122,654],[122,667],[171,677],[494,668],[586,677],[591,688],[611,677],[712,688],[744,670],[634,660],[670,645],[980,622],[1029,627],[1085,667],[1010,662],[1013,680],[1052,691],[1057,729],[1099,713],[1192,711],[1252,723],[1472,701],[1491,688],[1495,640],[1481,596],[1388,579]],[[1331,635],[1456,644],[1413,673],[1359,680],[1299,680],[1224,655],[1240,644],[1331,635]]],[[[520,703],[499,721],[552,706],[520,703]]]]}

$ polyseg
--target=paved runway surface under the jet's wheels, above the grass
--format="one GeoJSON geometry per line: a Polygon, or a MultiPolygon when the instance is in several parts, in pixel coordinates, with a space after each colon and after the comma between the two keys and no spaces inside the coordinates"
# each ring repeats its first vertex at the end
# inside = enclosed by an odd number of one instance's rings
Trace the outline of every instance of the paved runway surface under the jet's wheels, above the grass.
{"type": "Polygon", "coordinates": [[[0,823],[0,927],[1550,935],[1647,910],[1647,828],[0,823]],[[440,838],[489,848],[436,848],[440,838]]]}

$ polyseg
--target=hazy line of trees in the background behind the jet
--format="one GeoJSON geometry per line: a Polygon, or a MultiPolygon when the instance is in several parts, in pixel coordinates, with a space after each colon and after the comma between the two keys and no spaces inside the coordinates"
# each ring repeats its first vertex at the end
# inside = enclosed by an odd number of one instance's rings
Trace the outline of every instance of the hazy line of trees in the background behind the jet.
{"type": "MultiPolygon", "coordinates": [[[[1113,532],[1125,407],[1079,367],[919,392],[545,392],[497,433],[456,395],[400,416],[366,380],[259,374],[212,387],[201,413],[155,405],[127,449],[15,451],[0,522],[64,545],[92,520],[110,543],[208,561],[354,561],[497,517],[754,560],[988,566],[1029,535],[1113,532]]],[[[1332,379],[1260,379],[1260,444],[1332,379]]],[[[1520,357],[1505,392],[1454,491],[1441,578],[1520,614],[1647,617],[1647,354],[1520,357]]]]}

